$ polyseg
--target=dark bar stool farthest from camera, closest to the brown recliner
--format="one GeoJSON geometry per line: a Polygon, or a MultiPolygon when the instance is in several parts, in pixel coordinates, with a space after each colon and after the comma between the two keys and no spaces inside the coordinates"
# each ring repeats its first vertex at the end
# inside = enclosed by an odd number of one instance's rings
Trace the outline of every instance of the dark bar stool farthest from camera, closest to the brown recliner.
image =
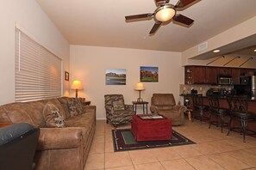
{"type": "Polygon", "coordinates": [[[192,100],[193,100],[193,107],[194,107],[192,121],[194,121],[194,118],[199,118],[200,123],[202,123],[202,120],[209,119],[204,116],[204,112],[209,110],[209,106],[203,105],[203,95],[202,94],[192,95],[192,100]],[[199,112],[199,116],[195,115],[196,112],[199,112]]]}

